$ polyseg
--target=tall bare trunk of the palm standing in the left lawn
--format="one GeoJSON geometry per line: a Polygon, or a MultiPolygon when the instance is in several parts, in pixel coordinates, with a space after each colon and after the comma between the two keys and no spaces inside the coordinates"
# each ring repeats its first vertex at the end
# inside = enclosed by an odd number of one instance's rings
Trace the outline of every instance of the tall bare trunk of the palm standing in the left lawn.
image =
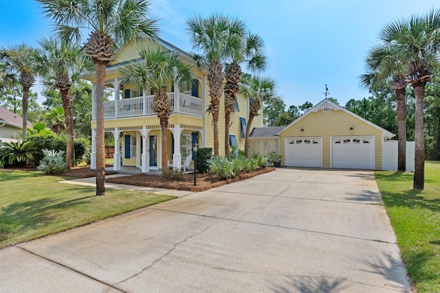
{"type": "Polygon", "coordinates": [[[104,82],[108,62],[95,62],[96,69],[96,196],[105,195],[104,82]]]}

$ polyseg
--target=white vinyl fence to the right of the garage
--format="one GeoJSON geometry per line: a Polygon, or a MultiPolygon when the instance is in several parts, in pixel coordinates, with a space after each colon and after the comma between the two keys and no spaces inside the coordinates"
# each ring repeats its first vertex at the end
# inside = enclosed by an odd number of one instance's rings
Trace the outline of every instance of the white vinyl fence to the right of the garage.
{"type": "MultiPolygon", "coordinates": [[[[414,172],[414,141],[406,141],[406,171],[414,172]]],[[[397,141],[385,141],[382,169],[397,170],[397,141]]]]}

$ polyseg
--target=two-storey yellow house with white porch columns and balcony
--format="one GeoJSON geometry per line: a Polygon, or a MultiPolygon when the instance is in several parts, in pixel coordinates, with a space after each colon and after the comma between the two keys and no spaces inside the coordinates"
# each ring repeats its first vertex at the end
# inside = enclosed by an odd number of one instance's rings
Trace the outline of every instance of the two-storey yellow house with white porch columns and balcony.
{"type": "MultiPolygon", "coordinates": [[[[189,54],[181,49],[157,39],[146,40],[144,45],[154,48],[162,47],[177,51],[186,62],[195,65],[189,54]]],[[[149,89],[142,91],[133,84],[122,84],[118,69],[120,65],[140,58],[136,45],[128,45],[120,51],[115,61],[107,67],[107,89],[113,91],[113,97],[104,103],[104,128],[115,138],[115,154],[113,169],[118,171],[120,166],[133,166],[147,173],[153,169],[162,169],[161,132],[159,119],[155,115],[153,92],[149,89]]],[[[92,150],[91,168],[96,169],[96,97],[94,82],[95,73],[90,72],[81,78],[92,82],[92,150]]],[[[168,126],[168,160],[173,160],[174,167],[180,167],[181,161],[191,154],[192,143],[199,148],[213,148],[214,136],[212,130],[212,115],[206,113],[210,103],[209,88],[206,73],[195,69],[192,86],[179,89],[179,86],[168,87],[168,97],[172,101],[173,114],[168,126]]],[[[224,106],[220,104],[219,116],[219,154],[224,155],[224,106]]],[[[249,117],[249,101],[239,96],[236,111],[231,115],[230,127],[231,145],[244,148],[246,121],[249,117]]],[[[252,126],[263,126],[263,115],[257,116],[252,126]]]]}

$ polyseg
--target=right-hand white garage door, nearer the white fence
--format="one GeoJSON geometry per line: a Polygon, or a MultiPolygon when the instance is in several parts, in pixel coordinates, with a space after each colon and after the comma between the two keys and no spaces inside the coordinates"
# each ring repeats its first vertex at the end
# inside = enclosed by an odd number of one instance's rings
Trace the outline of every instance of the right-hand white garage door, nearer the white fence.
{"type": "Polygon", "coordinates": [[[375,169],[374,137],[333,137],[333,168],[375,169]]]}

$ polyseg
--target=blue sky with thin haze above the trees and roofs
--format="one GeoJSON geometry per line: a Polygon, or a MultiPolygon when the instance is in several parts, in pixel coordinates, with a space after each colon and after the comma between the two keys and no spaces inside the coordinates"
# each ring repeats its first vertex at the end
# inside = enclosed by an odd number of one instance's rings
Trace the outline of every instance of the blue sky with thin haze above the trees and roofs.
{"type": "MultiPolygon", "coordinates": [[[[265,41],[270,68],[285,104],[317,104],[330,97],[344,106],[369,93],[359,86],[366,51],[378,43],[386,23],[438,8],[438,0],[151,0],[161,37],[191,51],[184,27],[188,16],[222,12],[237,16],[265,41]]],[[[33,0],[0,0],[0,45],[36,40],[52,32],[50,21],[33,0]]],[[[36,86],[33,91],[39,91],[36,86]]],[[[42,97],[39,98],[42,101],[42,97]]]]}

